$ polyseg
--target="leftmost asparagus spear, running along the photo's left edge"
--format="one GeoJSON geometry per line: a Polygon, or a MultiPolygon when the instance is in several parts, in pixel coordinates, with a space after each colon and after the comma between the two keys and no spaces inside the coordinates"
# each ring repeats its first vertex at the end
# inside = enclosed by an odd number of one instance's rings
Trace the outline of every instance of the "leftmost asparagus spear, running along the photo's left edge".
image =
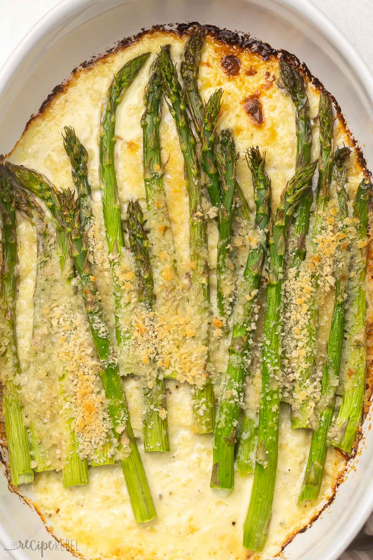
{"type": "Polygon", "coordinates": [[[2,348],[0,367],[3,377],[3,407],[5,430],[10,457],[12,483],[29,484],[34,480],[31,468],[30,443],[23,424],[20,396],[15,377],[21,374],[17,351],[15,325],[17,292],[17,237],[16,237],[16,194],[2,162],[0,164],[1,204],[1,288],[0,313],[2,348]]]}

